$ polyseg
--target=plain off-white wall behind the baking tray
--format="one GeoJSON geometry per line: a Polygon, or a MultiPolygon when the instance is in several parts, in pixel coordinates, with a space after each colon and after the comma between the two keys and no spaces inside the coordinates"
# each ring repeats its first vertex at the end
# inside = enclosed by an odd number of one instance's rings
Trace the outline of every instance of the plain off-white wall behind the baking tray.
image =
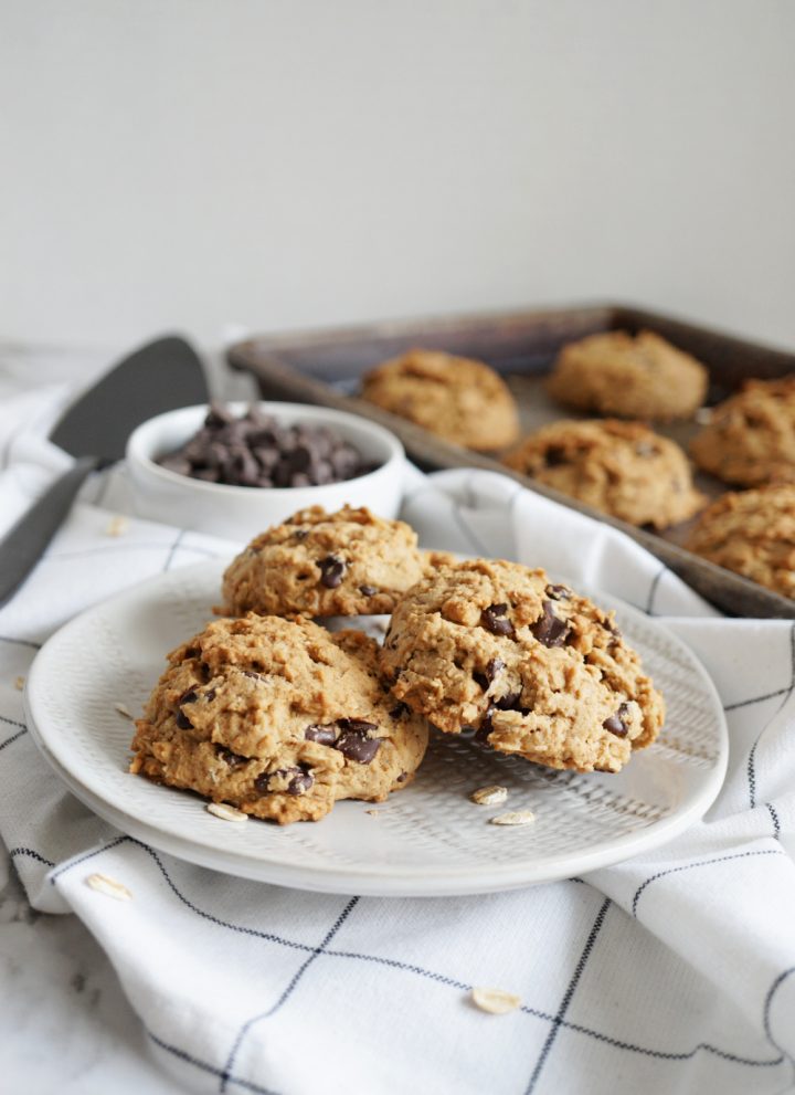
{"type": "Polygon", "coordinates": [[[621,298],[795,348],[792,0],[0,0],[0,335],[621,298]]]}

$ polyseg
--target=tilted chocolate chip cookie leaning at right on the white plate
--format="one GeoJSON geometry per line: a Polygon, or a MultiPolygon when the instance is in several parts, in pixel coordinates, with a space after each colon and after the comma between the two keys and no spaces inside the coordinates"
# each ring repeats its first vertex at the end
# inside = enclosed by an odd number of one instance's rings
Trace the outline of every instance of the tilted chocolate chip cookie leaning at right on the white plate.
{"type": "Polygon", "coordinates": [[[618,771],[650,745],[662,697],[613,614],[543,570],[476,559],[418,582],[380,655],[395,698],[447,734],[550,768],[618,771]]]}

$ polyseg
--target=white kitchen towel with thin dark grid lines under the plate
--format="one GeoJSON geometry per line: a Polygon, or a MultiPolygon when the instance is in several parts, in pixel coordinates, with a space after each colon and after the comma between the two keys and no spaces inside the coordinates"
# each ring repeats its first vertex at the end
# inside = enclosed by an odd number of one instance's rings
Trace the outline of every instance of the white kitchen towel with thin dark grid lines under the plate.
{"type": "MultiPolygon", "coordinates": [[[[40,391],[34,406],[24,394],[2,404],[0,526],[60,463],[30,423],[61,398],[40,391]]],[[[721,618],[632,540],[509,478],[415,476],[403,516],[428,546],[507,556],[601,587],[690,644],[729,720],[721,796],[703,822],[651,855],[515,893],[377,899],[235,881],[99,821],[26,733],[15,682],[59,625],[150,575],[234,550],[147,522],[119,527],[123,474],[87,492],[103,506],[75,506],[0,610],[0,833],[32,903],[76,914],[104,947],[152,1053],[183,1087],[792,1089],[792,623],[721,618]],[[94,872],[120,880],[132,899],[88,888],[94,872]],[[473,986],[516,992],[522,1007],[488,1015],[470,1004],[473,986]]]]}

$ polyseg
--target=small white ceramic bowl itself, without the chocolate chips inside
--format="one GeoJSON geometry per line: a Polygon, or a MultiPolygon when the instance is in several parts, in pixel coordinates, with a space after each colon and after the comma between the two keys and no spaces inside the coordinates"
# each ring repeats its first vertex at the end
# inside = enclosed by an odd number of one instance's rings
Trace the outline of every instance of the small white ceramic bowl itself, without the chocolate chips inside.
{"type": "MultiPolygon", "coordinates": [[[[240,415],[250,404],[229,406],[240,415]]],[[[398,515],[405,453],[389,430],[326,407],[278,402],[261,402],[258,407],[283,425],[329,427],[354,445],[369,464],[379,466],[341,483],[306,487],[226,486],[179,475],[156,461],[181,448],[202,425],[208,408],[184,407],[144,422],[127,442],[127,466],[138,516],[231,540],[250,540],[307,506],[324,506],[331,512],[350,503],[369,506],[381,517],[398,515]]]]}

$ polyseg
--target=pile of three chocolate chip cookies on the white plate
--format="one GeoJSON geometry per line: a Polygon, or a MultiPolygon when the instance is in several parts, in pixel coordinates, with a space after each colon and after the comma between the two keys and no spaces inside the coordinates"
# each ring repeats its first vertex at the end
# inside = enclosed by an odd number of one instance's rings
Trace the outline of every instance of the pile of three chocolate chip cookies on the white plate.
{"type": "Polygon", "coordinates": [[[169,655],[131,771],[280,823],[406,787],[433,728],[618,771],[664,704],[603,612],[542,570],[423,552],[404,523],[303,510],[227,568],[223,618],[169,655]],[[391,614],[383,646],[312,618],[391,614]]]}

